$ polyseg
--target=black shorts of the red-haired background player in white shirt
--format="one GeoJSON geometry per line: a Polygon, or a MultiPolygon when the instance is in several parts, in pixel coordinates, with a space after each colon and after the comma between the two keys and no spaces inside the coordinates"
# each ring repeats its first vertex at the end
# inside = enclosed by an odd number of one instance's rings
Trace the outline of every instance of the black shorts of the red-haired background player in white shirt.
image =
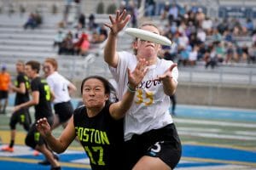
{"type": "Polygon", "coordinates": [[[70,101],[54,105],[55,115],[59,116],[60,122],[67,122],[73,115],[73,105],[70,101]]]}

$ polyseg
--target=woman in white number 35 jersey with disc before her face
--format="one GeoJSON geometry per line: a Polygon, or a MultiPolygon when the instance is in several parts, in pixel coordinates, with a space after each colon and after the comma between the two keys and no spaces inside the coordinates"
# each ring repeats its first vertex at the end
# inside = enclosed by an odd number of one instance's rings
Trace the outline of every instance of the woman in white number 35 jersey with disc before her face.
{"type": "MultiPolygon", "coordinates": [[[[129,82],[126,70],[133,70],[138,59],[148,61],[148,72],[137,88],[131,109],[125,115],[125,166],[128,170],[170,170],[177,166],[181,157],[181,143],[169,112],[170,98],[177,88],[177,64],[159,59],[160,44],[136,39],[133,42],[135,54],[117,52],[117,36],[131,16],[116,12],[109,16],[111,24],[104,59],[118,83],[118,97],[125,94],[129,82]]],[[[160,34],[152,24],[140,27],[145,31],[160,34]]]]}

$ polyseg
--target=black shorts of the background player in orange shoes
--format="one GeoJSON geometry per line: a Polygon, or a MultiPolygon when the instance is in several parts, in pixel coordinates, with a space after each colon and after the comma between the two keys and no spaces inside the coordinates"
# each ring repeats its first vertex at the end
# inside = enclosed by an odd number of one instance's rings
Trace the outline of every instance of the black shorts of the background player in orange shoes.
{"type": "Polygon", "coordinates": [[[23,125],[26,131],[29,130],[30,124],[31,124],[31,116],[29,114],[28,109],[20,109],[19,111],[15,111],[9,122],[9,126],[11,127],[12,130],[15,130],[16,124],[20,123],[23,125]]]}

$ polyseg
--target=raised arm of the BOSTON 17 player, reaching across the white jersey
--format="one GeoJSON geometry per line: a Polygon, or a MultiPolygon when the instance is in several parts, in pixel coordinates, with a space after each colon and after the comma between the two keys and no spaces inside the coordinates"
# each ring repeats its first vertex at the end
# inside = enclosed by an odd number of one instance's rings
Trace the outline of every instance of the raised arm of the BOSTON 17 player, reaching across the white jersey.
{"type": "Polygon", "coordinates": [[[110,105],[109,112],[114,119],[120,119],[125,116],[126,111],[131,107],[134,95],[136,94],[137,85],[142,82],[143,77],[146,75],[148,68],[148,61],[145,59],[139,59],[134,71],[130,71],[128,68],[128,84],[127,90],[123,96],[123,99],[118,103],[110,105]]]}

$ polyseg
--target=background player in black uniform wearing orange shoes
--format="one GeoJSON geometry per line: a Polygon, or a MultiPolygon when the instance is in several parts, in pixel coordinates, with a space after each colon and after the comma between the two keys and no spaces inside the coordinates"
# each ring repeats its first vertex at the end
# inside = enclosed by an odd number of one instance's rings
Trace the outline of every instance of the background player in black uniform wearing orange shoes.
{"type": "MultiPolygon", "coordinates": [[[[15,96],[15,105],[20,105],[22,103],[26,103],[29,100],[29,88],[30,88],[30,82],[28,78],[26,77],[25,73],[25,65],[22,61],[18,61],[16,63],[16,71],[18,73],[16,80],[15,80],[15,86],[12,86],[11,89],[16,92],[15,96]]],[[[9,126],[11,129],[10,133],[10,143],[9,146],[5,146],[2,148],[3,151],[14,151],[14,144],[15,144],[15,129],[16,124],[20,123],[23,125],[24,129],[28,132],[30,124],[31,124],[31,116],[28,112],[28,108],[22,108],[19,111],[15,111],[9,122],[9,126]]]]}

